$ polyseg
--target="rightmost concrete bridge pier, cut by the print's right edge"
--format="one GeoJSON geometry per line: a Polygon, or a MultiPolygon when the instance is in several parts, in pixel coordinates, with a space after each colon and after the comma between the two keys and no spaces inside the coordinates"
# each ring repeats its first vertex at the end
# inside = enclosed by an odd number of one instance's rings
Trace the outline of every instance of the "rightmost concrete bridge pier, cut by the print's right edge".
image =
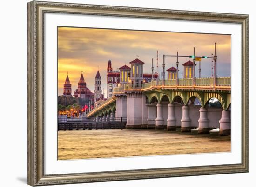
{"type": "Polygon", "coordinates": [[[222,118],[220,119],[220,135],[227,136],[231,134],[231,119],[230,111],[222,111],[222,118]]]}

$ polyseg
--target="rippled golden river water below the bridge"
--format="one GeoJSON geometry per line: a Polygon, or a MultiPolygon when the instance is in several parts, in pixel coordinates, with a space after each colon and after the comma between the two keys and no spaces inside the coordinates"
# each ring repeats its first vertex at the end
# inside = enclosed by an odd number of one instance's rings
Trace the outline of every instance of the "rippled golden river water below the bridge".
{"type": "Polygon", "coordinates": [[[58,131],[58,160],[230,152],[230,136],[154,129],[58,131]]]}

